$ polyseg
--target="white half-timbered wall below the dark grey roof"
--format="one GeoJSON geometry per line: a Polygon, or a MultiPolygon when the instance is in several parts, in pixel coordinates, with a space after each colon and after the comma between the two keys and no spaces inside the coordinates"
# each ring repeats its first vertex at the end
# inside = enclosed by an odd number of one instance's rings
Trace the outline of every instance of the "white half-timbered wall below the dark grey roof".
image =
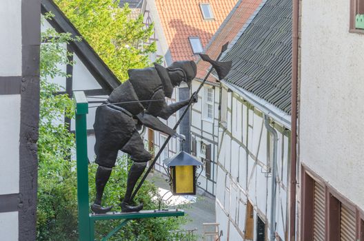
{"type": "MultiPolygon", "coordinates": [[[[228,235],[230,240],[243,240],[246,204],[249,200],[254,207],[254,237],[256,238],[256,215],[259,213],[267,227],[266,237],[269,240],[272,137],[267,139],[269,134],[263,125],[263,116],[259,109],[249,105],[234,92],[228,93],[226,97],[228,125],[226,129],[219,129],[216,222],[220,223],[220,228],[225,233],[223,240],[228,235]]],[[[290,131],[280,125],[274,128],[278,134],[276,232],[284,239],[287,231],[290,131]]]]}

